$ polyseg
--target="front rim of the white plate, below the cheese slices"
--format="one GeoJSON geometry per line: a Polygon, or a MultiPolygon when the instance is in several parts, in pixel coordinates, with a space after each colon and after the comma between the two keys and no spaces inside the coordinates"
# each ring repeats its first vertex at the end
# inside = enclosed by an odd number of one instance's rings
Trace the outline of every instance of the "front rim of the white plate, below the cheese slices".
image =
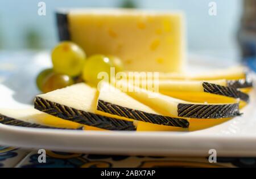
{"type": "Polygon", "coordinates": [[[199,134],[189,136],[184,134],[183,132],[170,133],[170,131],[138,133],[112,131],[110,133],[109,131],[31,129],[0,124],[0,136],[5,136],[0,138],[0,143],[6,146],[86,154],[157,156],[209,156],[209,150],[213,148],[218,156],[256,156],[256,145],[253,145],[256,135],[253,137],[227,135],[220,138],[218,135],[202,137],[199,134]],[[51,140],[48,140],[49,138],[51,140]],[[240,145],[236,145],[238,142],[240,145]],[[188,144],[191,148],[186,147],[188,144]]]}

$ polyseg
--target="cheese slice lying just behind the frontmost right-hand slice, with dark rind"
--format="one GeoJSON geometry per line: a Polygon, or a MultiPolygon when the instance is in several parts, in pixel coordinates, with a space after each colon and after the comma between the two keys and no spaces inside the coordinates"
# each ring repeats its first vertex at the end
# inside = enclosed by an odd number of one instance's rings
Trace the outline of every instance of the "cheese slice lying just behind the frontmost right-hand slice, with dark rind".
{"type": "MultiPolygon", "coordinates": [[[[150,90],[147,88],[147,85],[150,84],[151,86],[157,85],[158,90],[160,93],[163,93],[164,95],[176,97],[190,101],[189,98],[191,96],[197,97],[203,94],[205,98],[203,101],[199,102],[209,102],[207,100],[207,97],[211,97],[213,94],[213,97],[216,97],[218,95],[225,96],[228,98],[233,99],[241,99],[245,101],[246,103],[249,101],[249,95],[246,93],[241,92],[240,90],[237,90],[233,87],[226,87],[226,80],[212,80],[212,81],[196,81],[196,80],[159,80],[157,84],[154,84],[154,80],[141,80],[141,83],[139,84],[139,87],[144,86],[147,90],[150,90]],[[187,96],[188,93],[188,96],[187,96]],[[210,95],[207,95],[207,94],[210,95]]],[[[134,83],[134,85],[136,85],[134,83]]],[[[223,103],[228,99],[225,99],[225,97],[216,97],[218,99],[224,99],[224,100],[215,100],[214,103],[223,103]]],[[[201,97],[200,97],[201,98],[201,97]]],[[[232,99],[230,99],[232,101],[232,99]]],[[[233,100],[234,101],[234,100],[233,100]]]]}

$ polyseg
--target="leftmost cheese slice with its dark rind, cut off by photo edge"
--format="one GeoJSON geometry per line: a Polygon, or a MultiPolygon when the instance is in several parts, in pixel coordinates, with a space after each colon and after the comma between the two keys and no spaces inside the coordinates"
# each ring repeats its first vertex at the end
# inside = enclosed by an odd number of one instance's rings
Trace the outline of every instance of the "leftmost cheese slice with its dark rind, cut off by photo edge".
{"type": "Polygon", "coordinates": [[[0,109],[0,123],[35,128],[85,129],[85,125],[63,120],[47,113],[40,112],[34,108],[0,109]]]}

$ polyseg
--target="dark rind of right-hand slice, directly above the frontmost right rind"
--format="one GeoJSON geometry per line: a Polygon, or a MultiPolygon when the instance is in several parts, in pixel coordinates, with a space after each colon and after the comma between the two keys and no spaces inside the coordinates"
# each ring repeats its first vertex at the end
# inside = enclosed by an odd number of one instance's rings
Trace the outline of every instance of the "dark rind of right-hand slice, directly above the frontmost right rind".
{"type": "Polygon", "coordinates": [[[249,95],[243,93],[233,87],[220,86],[218,84],[203,82],[204,92],[212,93],[215,95],[228,96],[239,98],[243,101],[249,102],[249,95]]]}

